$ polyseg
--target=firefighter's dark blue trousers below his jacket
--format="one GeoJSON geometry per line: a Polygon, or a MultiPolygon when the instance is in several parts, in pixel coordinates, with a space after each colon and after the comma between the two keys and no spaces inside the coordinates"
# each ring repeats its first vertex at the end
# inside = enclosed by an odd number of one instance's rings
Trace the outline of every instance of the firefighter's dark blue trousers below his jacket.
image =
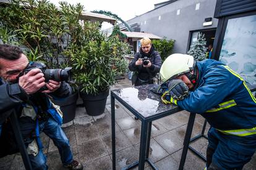
{"type": "Polygon", "coordinates": [[[256,135],[239,137],[211,127],[208,132],[207,169],[242,169],[256,150],[256,135]]]}

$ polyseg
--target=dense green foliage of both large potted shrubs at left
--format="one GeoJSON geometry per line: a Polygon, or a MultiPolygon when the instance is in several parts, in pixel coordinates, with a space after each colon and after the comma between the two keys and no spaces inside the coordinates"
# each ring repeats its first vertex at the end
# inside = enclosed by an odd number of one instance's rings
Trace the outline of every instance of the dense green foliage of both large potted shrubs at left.
{"type": "Polygon", "coordinates": [[[127,44],[101,33],[99,23],[80,24],[80,4],[59,4],[58,9],[46,0],[12,0],[0,7],[2,42],[27,47],[29,60],[49,68],[73,67],[74,85],[83,92],[105,91],[126,72],[127,44]]]}

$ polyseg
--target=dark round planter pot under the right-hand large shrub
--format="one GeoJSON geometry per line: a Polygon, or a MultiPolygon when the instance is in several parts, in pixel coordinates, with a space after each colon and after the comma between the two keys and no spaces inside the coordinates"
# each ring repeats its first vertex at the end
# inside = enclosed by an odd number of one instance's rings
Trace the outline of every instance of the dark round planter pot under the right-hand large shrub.
{"type": "Polygon", "coordinates": [[[106,100],[109,94],[109,89],[99,94],[86,94],[80,92],[80,97],[83,99],[85,110],[90,116],[98,116],[104,113],[106,100]]]}

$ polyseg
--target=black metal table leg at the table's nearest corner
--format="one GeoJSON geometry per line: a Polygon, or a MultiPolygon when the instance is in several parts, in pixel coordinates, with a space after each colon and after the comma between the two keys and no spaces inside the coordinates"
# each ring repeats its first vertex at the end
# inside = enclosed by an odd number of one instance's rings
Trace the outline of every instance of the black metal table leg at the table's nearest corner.
{"type": "Polygon", "coordinates": [[[148,121],[145,121],[142,119],[142,129],[140,133],[139,170],[143,170],[145,165],[147,135],[148,135],[148,121]]]}

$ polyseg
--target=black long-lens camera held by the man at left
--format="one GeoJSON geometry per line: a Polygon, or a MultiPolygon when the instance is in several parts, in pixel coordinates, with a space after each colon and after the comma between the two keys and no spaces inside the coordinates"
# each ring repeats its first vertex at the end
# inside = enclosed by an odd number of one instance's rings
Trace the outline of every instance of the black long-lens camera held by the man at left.
{"type": "MultiPolygon", "coordinates": [[[[45,78],[45,82],[48,82],[50,79],[52,79],[54,81],[66,81],[67,83],[69,83],[71,80],[70,70],[72,69],[72,67],[66,67],[64,69],[47,69],[46,65],[41,62],[29,62],[28,66],[25,68],[25,70],[22,71],[22,73],[20,73],[19,77],[23,76],[24,73],[27,74],[28,71],[33,70],[35,68],[39,68],[42,71],[45,78]]],[[[46,89],[47,87],[45,86],[41,88],[40,91],[44,91],[46,89]]]]}

